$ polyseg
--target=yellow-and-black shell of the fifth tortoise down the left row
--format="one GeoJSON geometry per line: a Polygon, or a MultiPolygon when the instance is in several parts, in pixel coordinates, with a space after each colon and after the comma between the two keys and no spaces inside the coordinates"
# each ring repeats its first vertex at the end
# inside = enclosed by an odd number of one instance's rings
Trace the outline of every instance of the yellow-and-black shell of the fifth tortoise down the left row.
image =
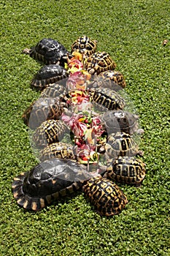
{"type": "Polygon", "coordinates": [[[63,121],[50,119],[42,122],[36,128],[32,140],[36,148],[45,148],[51,143],[59,142],[66,129],[66,124],[63,121]]]}

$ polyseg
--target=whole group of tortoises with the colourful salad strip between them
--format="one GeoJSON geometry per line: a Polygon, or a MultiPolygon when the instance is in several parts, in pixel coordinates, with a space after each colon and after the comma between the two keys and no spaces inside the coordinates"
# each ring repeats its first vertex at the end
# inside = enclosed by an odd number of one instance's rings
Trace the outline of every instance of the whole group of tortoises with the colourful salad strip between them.
{"type": "Polygon", "coordinates": [[[142,132],[139,116],[125,110],[115,61],[96,48],[82,36],[70,53],[54,39],[23,50],[44,65],[31,81],[41,95],[23,113],[39,165],[12,183],[23,208],[38,211],[82,189],[99,214],[112,216],[128,203],[116,183],[142,184],[145,164],[133,138],[142,132]]]}

